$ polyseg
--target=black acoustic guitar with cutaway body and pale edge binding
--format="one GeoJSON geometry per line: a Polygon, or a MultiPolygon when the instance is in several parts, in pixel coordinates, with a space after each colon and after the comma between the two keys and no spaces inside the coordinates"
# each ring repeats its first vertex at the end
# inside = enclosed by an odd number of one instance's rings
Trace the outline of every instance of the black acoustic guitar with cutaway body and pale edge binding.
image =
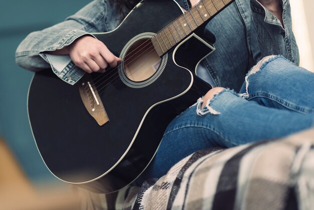
{"type": "Polygon", "coordinates": [[[195,69],[213,47],[194,32],[231,2],[203,0],[184,11],[175,1],[141,1],[117,29],[94,34],[122,59],[117,68],[75,85],[52,70],[36,73],[29,120],[48,169],[101,193],[136,179],[171,120],[211,88],[195,69]]]}

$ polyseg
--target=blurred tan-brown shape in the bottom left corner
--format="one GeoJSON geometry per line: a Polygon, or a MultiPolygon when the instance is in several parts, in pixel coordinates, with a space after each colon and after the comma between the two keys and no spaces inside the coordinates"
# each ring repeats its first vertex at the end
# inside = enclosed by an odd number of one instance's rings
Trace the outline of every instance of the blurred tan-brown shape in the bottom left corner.
{"type": "Polygon", "coordinates": [[[79,202],[76,190],[55,186],[38,190],[33,187],[0,139],[1,210],[75,210],[80,209],[79,202]]]}

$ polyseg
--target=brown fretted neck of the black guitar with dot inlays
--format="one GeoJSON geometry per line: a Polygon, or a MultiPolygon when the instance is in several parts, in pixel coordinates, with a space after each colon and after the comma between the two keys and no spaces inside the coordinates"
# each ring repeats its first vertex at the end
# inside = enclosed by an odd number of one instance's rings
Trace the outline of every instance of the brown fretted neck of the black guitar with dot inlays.
{"type": "Polygon", "coordinates": [[[202,0],[151,38],[159,56],[181,42],[234,0],[202,0]]]}

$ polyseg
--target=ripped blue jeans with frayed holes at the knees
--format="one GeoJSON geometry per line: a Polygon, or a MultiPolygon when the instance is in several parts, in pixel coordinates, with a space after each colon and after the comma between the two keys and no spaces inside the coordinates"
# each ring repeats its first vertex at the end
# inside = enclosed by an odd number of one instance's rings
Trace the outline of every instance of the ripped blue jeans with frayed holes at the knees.
{"type": "Polygon", "coordinates": [[[168,126],[139,183],[159,178],[191,153],[210,147],[280,138],[314,126],[314,73],[281,56],[267,56],[249,71],[236,93],[224,89],[202,99],[168,126]]]}

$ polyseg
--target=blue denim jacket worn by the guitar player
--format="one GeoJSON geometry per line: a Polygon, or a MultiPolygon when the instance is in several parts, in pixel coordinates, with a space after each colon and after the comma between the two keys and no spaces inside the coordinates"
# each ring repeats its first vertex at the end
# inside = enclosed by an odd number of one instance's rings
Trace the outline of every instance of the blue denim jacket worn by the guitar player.
{"type": "MultiPolygon", "coordinates": [[[[186,10],[190,7],[188,0],[177,2],[186,10]]],[[[298,64],[289,1],[281,4],[284,28],[256,0],[236,0],[213,18],[205,28],[216,36],[216,50],[202,61],[207,78],[217,86],[238,90],[250,67],[266,55],[281,54],[298,64]]],[[[62,49],[83,35],[111,31],[120,24],[119,16],[111,1],[95,0],[64,22],[28,35],[16,51],[16,62],[35,72],[51,67],[65,82],[75,84],[84,71],[69,56],[45,52],[62,49]]]]}

